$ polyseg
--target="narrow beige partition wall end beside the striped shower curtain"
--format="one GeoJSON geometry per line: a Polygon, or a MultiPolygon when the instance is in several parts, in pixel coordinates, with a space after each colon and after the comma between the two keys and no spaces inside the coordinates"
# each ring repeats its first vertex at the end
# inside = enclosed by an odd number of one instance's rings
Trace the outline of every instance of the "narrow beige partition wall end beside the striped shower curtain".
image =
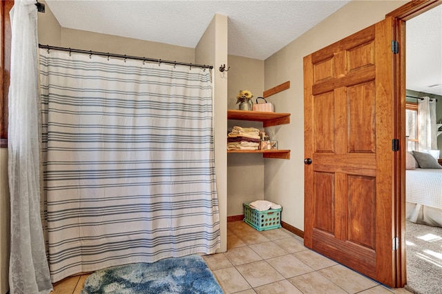
{"type": "Polygon", "coordinates": [[[215,177],[220,208],[221,247],[227,251],[227,77],[216,64],[227,63],[227,17],[215,14],[195,47],[195,63],[211,64],[214,99],[215,177]]]}

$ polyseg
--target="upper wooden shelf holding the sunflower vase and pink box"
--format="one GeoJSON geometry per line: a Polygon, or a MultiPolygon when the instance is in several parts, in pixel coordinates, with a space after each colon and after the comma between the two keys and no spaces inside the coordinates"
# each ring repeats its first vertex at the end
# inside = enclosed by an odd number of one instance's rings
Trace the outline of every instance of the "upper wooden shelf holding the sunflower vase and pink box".
{"type": "Polygon", "coordinates": [[[227,119],[238,119],[241,121],[262,121],[262,126],[266,128],[268,126],[290,124],[290,113],[227,110],[227,119]]]}

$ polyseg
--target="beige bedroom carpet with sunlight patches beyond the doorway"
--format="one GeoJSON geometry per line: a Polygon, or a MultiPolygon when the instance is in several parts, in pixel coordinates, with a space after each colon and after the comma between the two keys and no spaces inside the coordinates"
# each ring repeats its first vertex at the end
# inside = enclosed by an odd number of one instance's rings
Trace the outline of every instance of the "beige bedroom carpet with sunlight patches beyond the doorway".
{"type": "Polygon", "coordinates": [[[442,228],[407,221],[407,284],[416,294],[442,294],[442,228]]]}

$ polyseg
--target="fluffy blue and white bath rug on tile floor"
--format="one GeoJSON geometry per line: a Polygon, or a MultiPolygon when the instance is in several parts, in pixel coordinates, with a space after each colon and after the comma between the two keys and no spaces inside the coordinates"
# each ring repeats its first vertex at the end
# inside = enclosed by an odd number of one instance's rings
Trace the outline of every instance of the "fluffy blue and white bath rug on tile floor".
{"type": "Polygon", "coordinates": [[[199,255],[162,259],[96,271],[81,294],[92,293],[219,293],[222,289],[199,255]]]}

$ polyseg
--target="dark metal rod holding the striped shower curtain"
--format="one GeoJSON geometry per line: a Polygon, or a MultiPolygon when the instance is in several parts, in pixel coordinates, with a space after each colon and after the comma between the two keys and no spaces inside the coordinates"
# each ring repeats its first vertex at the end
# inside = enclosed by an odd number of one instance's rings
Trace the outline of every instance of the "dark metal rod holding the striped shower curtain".
{"type": "Polygon", "coordinates": [[[120,55],[120,54],[115,54],[115,53],[109,53],[109,52],[97,52],[97,51],[88,51],[88,50],[80,50],[80,49],[73,49],[73,48],[64,48],[64,47],[55,47],[55,46],[49,46],[49,45],[41,45],[39,44],[39,48],[43,48],[43,49],[48,49],[49,50],[59,50],[59,51],[66,51],[66,52],[75,52],[75,53],[83,53],[83,54],[88,54],[89,57],[92,55],[99,55],[99,56],[107,56],[109,57],[116,57],[116,58],[121,58],[121,59],[135,59],[135,60],[142,60],[144,61],[148,61],[148,62],[157,62],[158,64],[160,63],[168,63],[168,64],[173,64],[173,65],[178,65],[178,66],[190,66],[190,68],[194,67],[194,68],[209,68],[212,69],[213,66],[206,66],[205,64],[194,64],[194,63],[186,63],[186,62],[177,62],[177,61],[170,61],[170,60],[163,60],[163,59],[154,59],[154,58],[148,58],[148,57],[137,57],[137,56],[131,56],[131,55],[120,55]]]}

